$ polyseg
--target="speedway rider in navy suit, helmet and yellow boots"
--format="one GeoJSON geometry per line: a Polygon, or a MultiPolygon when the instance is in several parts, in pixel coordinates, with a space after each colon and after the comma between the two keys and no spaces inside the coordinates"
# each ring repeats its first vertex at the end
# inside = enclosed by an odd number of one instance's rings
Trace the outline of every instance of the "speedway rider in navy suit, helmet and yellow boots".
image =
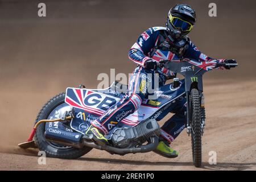
{"type": "MultiPolygon", "coordinates": [[[[111,106],[100,118],[92,121],[92,125],[86,131],[86,134],[93,135],[94,142],[101,145],[107,144],[108,140],[105,135],[113,129],[113,127],[108,127],[108,124],[110,122],[117,124],[123,118],[134,113],[141,105],[143,99],[148,96],[147,88],[141,87],[147,85],[144,84],[146,81],[152,81],[147,78],[148,73],[159,74],[159,86],[176,76],[174,72],[159,68],[160,60],[183,57],[200,61],[213,60],[201,53],[187,36],[195,26],[195,22],[195,10],[189,5],[178,4],[168,12],[166,27],[148,28],[139,36],[129,51],[129,58],[138,66],[129,80],[129,88],[125,97],[111,106]],[[144,83],[142,84],[142,82],[144,83]],[[145,89],[146,92],[144,92],[145,89]]],[[[218,59],[217,63],[236,63],[236,60],[218,59]]],[[[220,67],[220,69],[230,69],[230,67],[220,67]]],[[[185,128],[185,102],[186,100],[183,98],[170,106],[170,112],[175,114],[161,127],[160,141],[154,151],[157,154],[168,158],[177,157],[177,151],[173,150],[169,144],[185,128]]]]}

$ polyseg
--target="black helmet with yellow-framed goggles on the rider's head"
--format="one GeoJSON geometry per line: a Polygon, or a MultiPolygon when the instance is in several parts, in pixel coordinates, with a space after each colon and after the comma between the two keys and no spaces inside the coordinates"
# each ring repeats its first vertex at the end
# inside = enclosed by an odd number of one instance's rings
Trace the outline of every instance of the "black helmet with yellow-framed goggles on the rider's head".
{"type": "Polygon", "coordinates": [[[168,13],[166,29],[173,39],[187,35],[196,23],[196,12],[189,5],[175,5],[168,13]]]}

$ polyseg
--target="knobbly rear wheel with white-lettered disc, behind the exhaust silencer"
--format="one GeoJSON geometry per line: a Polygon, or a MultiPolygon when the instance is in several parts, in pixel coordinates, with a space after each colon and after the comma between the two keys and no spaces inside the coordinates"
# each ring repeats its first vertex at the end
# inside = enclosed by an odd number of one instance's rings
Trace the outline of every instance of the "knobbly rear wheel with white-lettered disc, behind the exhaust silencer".
{"type": "MultiPolygon", "coordinates": [[[[49,100],[43,108],[40,110],[38,117],[36,117],[36,122],[41,119],[55,119],[59,118],[64,111],[71,109],[70,106],[65,104],[65,92],[60,93],[51,100],[49,100]]],[[[76,159],[80,156],[88,153],[92,148],[73,148],[69,146],[63,146],[61,144],[48,142],[44,137],[44,131],[47,127],[57,127],[59,129],[64,129],[72,131],[71,127],[64,125],[61,122],[51,122],[51,123],[41,123],[36,129],[35,141],[40,151],[45,151],[48,157],[52,158],[64,158],[64,159],[76,159]]]]}

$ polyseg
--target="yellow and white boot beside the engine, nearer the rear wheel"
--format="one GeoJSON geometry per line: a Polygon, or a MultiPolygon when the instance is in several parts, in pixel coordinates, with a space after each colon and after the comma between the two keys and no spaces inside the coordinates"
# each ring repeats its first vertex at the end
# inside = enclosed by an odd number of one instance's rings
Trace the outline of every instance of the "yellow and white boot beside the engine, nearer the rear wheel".
{"type": "Polygon", "coordinates": [[[101,130],[97,129],[97,127],[94,127],[93,125],[90,125],[85,134],[93,135],[93,142],[100,146],[106,146],[106,144],[108,144],[108,139],[104,137],[104,133],[102,133],[101,130]]]}

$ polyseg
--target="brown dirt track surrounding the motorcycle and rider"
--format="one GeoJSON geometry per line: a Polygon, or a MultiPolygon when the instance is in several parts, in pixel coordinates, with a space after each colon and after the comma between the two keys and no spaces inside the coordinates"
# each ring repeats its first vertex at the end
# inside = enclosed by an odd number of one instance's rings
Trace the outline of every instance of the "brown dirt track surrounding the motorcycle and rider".
{"type": "Polygon", "coordinates": [[[92,150],[80,159],[47,158],[46,165],[39,165],[36,150],[16,147],[27,139],[38,111],[55,94],[81,83],[96,88],[97,75],[109,74],[110,68],[116,74],[133,72],[128,49],[148,27],[164,26],[170,4],[45,2],[47,18],[38,18],[35,1],[1,1],[0,169],[256,170],[256,34],[249,31],[256,26],[246,22],[248,16],[255,17],[254,1],[216,1],[217,18],[208,16],[210,1],[184,1],[197,10],[190,36],[197,47],[207,55],[234,58],[240,64],[205,75],[202,168],[192,165],[191,140],[185,131],[172,143],[180,153],[176,159],[154,152],[118,156],[92,150]],[[233,13],[238,9],[241,15],[233,13]],[[245,28],[246,24],[251,27],[245,28]],[[217,152],[217,165],[209,165],[210,151],[217,152]]]}

